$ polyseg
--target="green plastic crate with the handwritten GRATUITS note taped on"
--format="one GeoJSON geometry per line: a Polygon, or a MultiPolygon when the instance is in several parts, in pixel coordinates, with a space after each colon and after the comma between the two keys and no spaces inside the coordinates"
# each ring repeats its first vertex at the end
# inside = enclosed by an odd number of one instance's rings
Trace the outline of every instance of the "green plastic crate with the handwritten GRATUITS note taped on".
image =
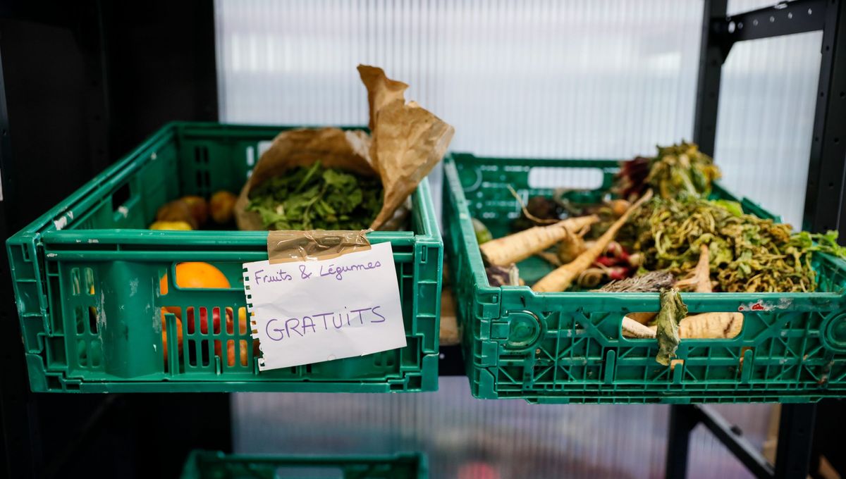
{"type": "MultiPolygon", "coordinates": [[[[267,233],[144,228],[159,206],[181,195],[239,192],[261,148],[287,128],[168,124],[8,239],[34,391],[437,389],[442,242],[426,180],[412,195],[412,231],[368,234],[372,243],[393,247],[408,346],[259,373],[250,333],[238,323],[234,330],[202,334],[198,328],[189,335],[183,321],[184,354],[168,351],[165,364],[161,308],[206,308],[208,317],[214,308],[239,312],[245,306],[242,263],[267,259],[267,233]],[[215,264],[232,287],[179,290],[173,268],[184,261],[215,264]],[[166,273],[168,294],[160,295],[159,278],[166,273]],[[215,346],[227,353],[215,355],[215,346]]],[[[164,318],[174,331],[175,316],[164,318]]]]}

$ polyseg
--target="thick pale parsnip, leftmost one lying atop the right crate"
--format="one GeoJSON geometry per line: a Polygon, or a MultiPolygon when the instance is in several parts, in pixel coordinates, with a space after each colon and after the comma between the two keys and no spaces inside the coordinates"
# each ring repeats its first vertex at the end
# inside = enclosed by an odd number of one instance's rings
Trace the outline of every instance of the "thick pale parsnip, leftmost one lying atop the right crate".
{"type": "Polygon", "coordinates": [[[479,249],[489,264],[512,264],[550,248],[557,242],[574,237],[575,231],[591,226],[599,218],[596,215],[580,216],[558,221],[554,225],[535,226],[507,237],[482,244],[479,249]]]}

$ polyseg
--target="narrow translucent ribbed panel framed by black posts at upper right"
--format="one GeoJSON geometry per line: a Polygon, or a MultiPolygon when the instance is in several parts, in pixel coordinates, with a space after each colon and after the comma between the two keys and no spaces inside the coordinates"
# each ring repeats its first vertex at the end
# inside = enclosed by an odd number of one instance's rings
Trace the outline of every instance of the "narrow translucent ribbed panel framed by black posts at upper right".
{"type": "Polygon", "coordinates": [[[821,32],[735,44],[722,67],[715,158],[733,193],[802,226],[821,32]]]}

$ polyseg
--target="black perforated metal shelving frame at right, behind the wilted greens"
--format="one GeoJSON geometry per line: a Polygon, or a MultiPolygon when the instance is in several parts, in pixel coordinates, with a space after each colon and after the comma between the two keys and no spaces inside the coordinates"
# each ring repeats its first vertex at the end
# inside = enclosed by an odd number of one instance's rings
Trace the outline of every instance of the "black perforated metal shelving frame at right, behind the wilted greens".
{"type": "MultiPolygon", "coordinates": [[[[805,189],[803,229],[846,229],[843,207],[846,172],[846,8],[840,0],[795,0],[743,14],[727,14],[727,0],[706,0],[702,15],[700,66],[696,85],[694,141],[714,153],[722,65],[732,46],[774,36],[822,31],[820,81],[805,189]]],[[[756,477],[808,476],[816,404],[785,404],[779,418],[776,464],[710,406],[670,406],[666,476],[688,476],[689,435],[702,424],[756,477]]]]}

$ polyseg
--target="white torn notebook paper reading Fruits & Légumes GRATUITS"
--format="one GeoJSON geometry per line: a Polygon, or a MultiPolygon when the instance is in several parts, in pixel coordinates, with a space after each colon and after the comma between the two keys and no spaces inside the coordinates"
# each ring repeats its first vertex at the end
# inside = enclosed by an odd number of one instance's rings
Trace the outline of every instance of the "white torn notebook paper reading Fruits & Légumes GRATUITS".
{"type": "Polygon", "coordinates": [[[332,259],[244,263],[244,294],[261,371],[405,346],[389,242],[332,259]]]}

